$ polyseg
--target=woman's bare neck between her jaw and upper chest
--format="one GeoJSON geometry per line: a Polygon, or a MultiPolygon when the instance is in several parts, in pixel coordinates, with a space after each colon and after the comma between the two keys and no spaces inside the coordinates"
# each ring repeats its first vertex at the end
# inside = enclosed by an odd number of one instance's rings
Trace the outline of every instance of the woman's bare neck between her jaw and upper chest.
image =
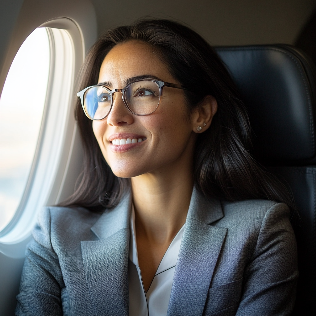
{"type": "Polygon", "coordinates": [[[154,244],[171,242],[186,220],[193,189],[192,165],[190,160],[176,161],[163,170],[131,178],[138,236],[154,244]]]}

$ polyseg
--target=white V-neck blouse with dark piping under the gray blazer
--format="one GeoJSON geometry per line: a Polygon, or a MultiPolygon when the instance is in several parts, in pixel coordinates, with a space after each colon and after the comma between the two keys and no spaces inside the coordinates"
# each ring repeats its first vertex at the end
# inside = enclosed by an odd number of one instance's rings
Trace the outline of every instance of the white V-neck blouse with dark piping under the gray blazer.
{"type": "Polygon", "coordinates": [[[130,295],[130,316],[166,316],[171,294],[173,274],[177,264],[184,226],[172,240],[164,254],[150,287],[145,293],[142,275],[138,265],[135,211],[131,212],[131,237],[128,262],[128,288],[130,295]]]}

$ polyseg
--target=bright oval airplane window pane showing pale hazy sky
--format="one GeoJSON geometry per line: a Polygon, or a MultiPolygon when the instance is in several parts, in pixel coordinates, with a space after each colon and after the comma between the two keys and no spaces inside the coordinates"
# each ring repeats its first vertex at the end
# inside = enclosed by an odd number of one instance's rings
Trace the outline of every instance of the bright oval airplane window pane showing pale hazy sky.
{"type": "Polygon", "coordinates": [[[45,27],[24,41],[0,99],[0,231],[11,221],[25,191],[37,148],[50,68],[45,27]]]}

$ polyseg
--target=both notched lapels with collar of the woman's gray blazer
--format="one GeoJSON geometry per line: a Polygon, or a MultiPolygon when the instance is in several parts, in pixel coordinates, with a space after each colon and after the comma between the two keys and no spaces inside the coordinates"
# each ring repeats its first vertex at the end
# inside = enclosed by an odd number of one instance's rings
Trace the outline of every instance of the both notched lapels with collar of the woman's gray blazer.
{"type": "MultiPolygon", "coordinates": [[[[82,259],[95,313],[128,315],[128,252],[131,193],[105,211],[91,230],[99,238],[82,241],[82,259]]],[[[194,187],[168,306],[168,316],[202,315],[226,228],[210,224],[224,216],[220,201],[194,187]],[[185,289],[185,290],[183,290],[185,289]]]]}

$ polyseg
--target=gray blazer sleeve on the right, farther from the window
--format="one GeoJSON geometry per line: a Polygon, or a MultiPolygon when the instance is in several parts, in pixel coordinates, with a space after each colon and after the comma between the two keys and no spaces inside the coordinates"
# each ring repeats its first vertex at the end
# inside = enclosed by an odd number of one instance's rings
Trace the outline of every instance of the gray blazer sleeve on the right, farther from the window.
{"type": "Polygon", "coordinates": [[[289,209],[273,205],[265,214],[254,252],[244,271],[236,315],[289,315],[298,279],[297,247],[289,209]]]}

